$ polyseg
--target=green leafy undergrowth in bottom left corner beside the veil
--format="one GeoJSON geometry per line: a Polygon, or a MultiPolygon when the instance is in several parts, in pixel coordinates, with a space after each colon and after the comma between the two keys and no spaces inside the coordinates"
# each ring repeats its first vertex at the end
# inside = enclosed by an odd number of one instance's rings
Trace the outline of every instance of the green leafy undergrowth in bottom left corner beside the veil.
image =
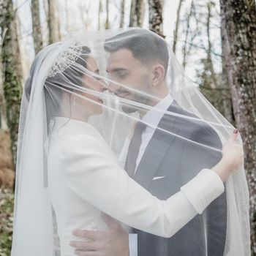
{"type": "Polygon", "coordinates": [[[12,219],[14,195],[0,190],[0,256],[9,256],[12,247],[12,219]]]}

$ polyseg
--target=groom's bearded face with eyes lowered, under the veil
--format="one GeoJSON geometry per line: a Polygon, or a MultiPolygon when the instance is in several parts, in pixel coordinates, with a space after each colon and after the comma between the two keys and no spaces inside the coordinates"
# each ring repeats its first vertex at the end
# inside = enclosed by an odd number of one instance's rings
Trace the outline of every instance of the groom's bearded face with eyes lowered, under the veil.
{"type": "MultiPolygon", "coordinates": [[[[147,104],[146,94],[151,94],[150,67],[135,59],[131,50],[123,48],[110,53],[107,72],[111,80],[108,86],[110,92],[132,102],[147,104]]],[[[126,113],[138,110],[130,105],[122,105],[122,109],[126,113]]]]}

